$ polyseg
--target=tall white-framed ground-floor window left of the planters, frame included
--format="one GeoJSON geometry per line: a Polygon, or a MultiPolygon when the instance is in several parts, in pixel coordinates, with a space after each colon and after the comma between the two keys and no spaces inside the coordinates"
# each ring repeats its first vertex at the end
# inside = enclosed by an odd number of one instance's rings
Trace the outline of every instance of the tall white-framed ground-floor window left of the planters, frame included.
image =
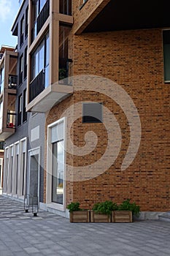
{"type": "Polygon", "coordinates": [[[47,203],[56,203],[56,207],[61,211],[64,211],[65,207],[64,134],[65,118],[48,126],[47,203]]]}

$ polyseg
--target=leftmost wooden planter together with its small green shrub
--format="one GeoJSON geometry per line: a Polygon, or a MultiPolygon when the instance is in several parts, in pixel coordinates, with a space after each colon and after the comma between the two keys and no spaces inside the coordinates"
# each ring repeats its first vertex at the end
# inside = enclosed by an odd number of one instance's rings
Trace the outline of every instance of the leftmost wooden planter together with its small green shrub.
{"type": "Polygon", "coordinates": [[[90,211],[80,208],[79,202],[72,202],[67,208],[70,222],[90,222],[90,211]]]}

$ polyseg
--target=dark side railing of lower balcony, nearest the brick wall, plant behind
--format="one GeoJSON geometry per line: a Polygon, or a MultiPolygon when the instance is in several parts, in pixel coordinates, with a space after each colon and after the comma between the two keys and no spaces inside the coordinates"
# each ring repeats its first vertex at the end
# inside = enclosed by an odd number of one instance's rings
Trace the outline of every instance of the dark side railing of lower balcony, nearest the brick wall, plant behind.
{"type": "Polygon", "coordinates": [[[64,58],[59,59],[59,69],[58,69],[59,83],[72,85],[71,79],[69,79],[72,76],[71,68],[69,67],[71,63],[72,63],[72,59],[64,59],[64,58]]]}

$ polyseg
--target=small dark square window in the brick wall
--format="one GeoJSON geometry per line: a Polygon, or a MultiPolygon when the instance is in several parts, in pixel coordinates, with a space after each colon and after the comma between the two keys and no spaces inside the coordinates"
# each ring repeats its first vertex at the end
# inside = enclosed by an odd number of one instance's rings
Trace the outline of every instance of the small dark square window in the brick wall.
{"type": "Polygon", "coordinates": [[[102,106],[97,102],[83,103],[82,123],[102,123],[102,106]]]}

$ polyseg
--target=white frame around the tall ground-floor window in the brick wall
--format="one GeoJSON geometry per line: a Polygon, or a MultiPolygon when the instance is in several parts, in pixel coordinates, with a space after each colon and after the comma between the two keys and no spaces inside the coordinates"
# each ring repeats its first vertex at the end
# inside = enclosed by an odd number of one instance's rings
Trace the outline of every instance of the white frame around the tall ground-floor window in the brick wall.
{"type": "Polygon", "coordinates": [[[66,211],[66,117],[59,119],[47,126],[47,192],[46,192],[46,203],[50,204],[59,211],[66,211]],[[53,143],[51,143],[51,130],[56,125],[63,122],[63,145],[64,145],[64,155],[63,155],[63,205],[59,203],[52,202],[52,173],[53,173],[53,143]]]}

